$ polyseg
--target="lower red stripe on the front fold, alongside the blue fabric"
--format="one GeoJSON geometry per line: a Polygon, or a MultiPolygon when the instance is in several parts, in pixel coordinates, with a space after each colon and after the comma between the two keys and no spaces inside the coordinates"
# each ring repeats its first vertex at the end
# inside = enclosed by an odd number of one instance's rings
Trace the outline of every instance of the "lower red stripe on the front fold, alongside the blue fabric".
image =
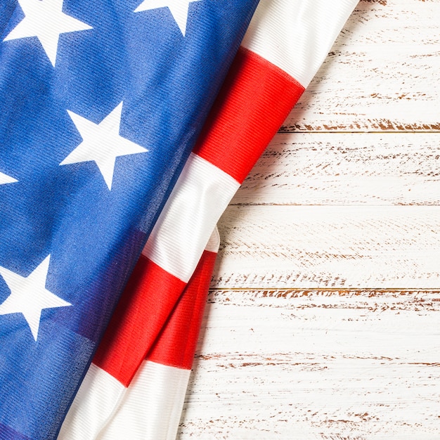
{"type": "Polygon", "coordinates": [[[185,287],[141,255],[93,363],[128,387],[185,287]]]}

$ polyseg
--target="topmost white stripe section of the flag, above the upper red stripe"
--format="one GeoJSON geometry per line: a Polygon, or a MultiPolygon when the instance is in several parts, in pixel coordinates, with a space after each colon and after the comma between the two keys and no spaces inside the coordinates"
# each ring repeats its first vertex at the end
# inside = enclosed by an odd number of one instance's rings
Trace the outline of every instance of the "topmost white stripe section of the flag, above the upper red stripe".
{"type": "Polygon", "coordinates": [[[261,0],[242,46],[306,87],[358,0],[261,0]]]}

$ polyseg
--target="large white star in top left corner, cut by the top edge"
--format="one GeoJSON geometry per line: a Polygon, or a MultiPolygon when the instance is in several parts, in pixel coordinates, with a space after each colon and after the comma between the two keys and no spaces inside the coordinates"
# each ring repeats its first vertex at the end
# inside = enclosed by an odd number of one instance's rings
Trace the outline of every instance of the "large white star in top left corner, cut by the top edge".
{"type": "Polygon", "coordinates": [[[63,0],[18,0],[25,18],[8,34],[4,41],[37,37],[55,67],[60,34],[93,29],[86,23],[63,13],[63,0]]]}

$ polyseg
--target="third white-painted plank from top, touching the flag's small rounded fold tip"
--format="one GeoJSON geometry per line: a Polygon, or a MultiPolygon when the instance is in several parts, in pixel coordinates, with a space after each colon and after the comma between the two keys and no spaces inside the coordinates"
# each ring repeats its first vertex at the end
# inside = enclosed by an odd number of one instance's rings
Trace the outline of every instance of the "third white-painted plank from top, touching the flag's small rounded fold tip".
{"type": "Polygon", "coordinates": [[[440,207],[230,206],[212,287],[436,288],[440,207]]]}

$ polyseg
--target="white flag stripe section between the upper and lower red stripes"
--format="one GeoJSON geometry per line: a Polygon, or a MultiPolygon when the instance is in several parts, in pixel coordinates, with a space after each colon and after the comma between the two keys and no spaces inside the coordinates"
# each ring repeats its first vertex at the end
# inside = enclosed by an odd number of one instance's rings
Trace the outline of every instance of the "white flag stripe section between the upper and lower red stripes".
{"type": "Polygon", "coordinates": [[[191,153],[143,250],[185,283],[240,183],[191,153]]]}

